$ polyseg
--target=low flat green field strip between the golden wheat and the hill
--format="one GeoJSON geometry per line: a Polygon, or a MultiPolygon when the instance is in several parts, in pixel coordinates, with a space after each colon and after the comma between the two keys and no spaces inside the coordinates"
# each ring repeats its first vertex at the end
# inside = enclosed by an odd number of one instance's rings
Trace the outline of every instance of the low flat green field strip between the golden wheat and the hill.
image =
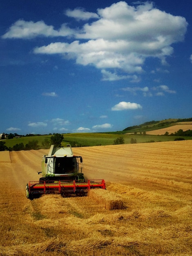
{"type": "MultiPolygon", "coordinates": [[[[45,138],[50,139],[52,135],[41,135],[31,137],[20,137],[13,139],[6,139],[7,147],[13,147],[16,144],[23,143],[26,145],[29,141],[37,140],[38,145],[41,148],[42,142],[45,138]]],[[[131,139],[136,139],[136,143],[158,142],[158,141],[173,141],[176,136],[165,135],[140,135],[140,134],[113,134],[113,133],[70,133],[63,134],[64,140],[62,146],[71,144],[72,146],[105,146],[114,144],[114,140],[118,137],[123,137],[125,144],[130,144],[131,139]],[[75,145],[76,144],[76,145],[75,145]]],[[[183,137],[184,139],[190,139],[191,137],[183,137]]]]}

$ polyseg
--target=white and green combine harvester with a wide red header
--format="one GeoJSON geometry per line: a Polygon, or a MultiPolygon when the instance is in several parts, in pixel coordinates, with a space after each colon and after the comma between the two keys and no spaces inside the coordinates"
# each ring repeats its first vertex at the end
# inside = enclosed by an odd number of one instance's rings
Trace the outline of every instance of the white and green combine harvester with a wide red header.
{"type": "Polygon", "coordinates": [[[83,159],[73,155],[71,145],[54,147],[51,145],[48,155],[42,156],[42,177],[39,181],[30,181],[26,185],[26,196],[38,198],[43,194],[87,195],[90,189],[105,189],[104,180],[85,180],[82,173],[83,159]]]}

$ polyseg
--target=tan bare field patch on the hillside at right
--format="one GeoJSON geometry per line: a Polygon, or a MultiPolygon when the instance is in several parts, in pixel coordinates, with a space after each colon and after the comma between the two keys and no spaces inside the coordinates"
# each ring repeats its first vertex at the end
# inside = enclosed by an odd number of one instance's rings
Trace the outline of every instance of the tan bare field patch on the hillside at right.
{"type": "Polygon", "coordinates": [[[146,134],[163,135],[163,134],[165,134],[165,132],[169,132],[169,134],[171,134],[171,133],[177,132],[180,129],[182,129],[184,132],[187,130],[192,130],[192,124],[176,124],[175,126],[170,126],[167,128],[148,131],[148,132],[146,132],[146,134]]]}

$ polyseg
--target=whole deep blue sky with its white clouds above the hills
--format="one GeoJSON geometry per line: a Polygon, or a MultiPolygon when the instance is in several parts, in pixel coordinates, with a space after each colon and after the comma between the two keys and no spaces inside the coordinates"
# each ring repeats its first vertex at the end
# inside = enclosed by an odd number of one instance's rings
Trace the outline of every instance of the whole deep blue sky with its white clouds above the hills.
{"type": "Polygon", "coordinates": [[[1,0],[0,132],[192,117],[190,0],[1,0]]]}

